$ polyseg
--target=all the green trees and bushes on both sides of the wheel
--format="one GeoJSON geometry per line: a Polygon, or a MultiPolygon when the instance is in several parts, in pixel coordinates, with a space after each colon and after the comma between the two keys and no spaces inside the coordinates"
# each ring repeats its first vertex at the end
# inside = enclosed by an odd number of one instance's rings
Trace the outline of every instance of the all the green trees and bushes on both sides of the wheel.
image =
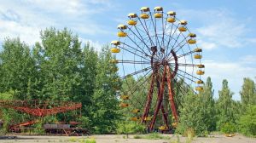
{"type": "MultiPolygon", "coordinates": [[[[96,51],[89,43],[82,45],[72,31],[49,28],[41,31],[41,40],[29,47],[19,38],[6,38],[0,52],[0,100],[55,100],[81,102],[82,117],[72,112],[56,117],[45,117],[45,123],[73,121],[78,118],[79,127],[90,129],[94,134],[140,134],[145,128],[123,118],[134,117],[131,108],[119,109],[116,90],[129,90],[129,84],[142,82],[147,77],[127,77],[125,82],[109,63],[114,57],[108,45],[96,51]],[[125,116],[122,116],[125,114],[125,116]]],[[[256,85],[253,79],[244,78],[241,87],[241,101],[232,99],[233,92],[224,80],[218,91],[218,100],[213,99],[211,78],[207,78],[200,94],[190,92],[190,87],[177,81],[174,85],[175,101],[179,113],[176,133],[193,138],[207,136],[212,131],[256,135],[256,85]],[[177,89],[182,88],[182,89],[177,89]],[[181,94],[183,90],[187,94],[181,94]]],[[[137,108],[145,100],[148,83],[136,86],[137,108]],[[142,88],[144,87],[144,88],[142,88]]],[[[127,93],[125,93],[127,94],[127,93]]],[[[129,93],[128,93],[129,94],[129,93]]],[[[156,97],[156,96],[154,96],[156,97]]],[[[152,105],[155,105],[153,100],[152,105]]],[[[136,106],[135,106],[136,108],[136,106]]],[[[152,112],[150,113],[152,114],[152,112]]],[[[172,115],[171,115],[172,116],[172,115]]],[[[10,124],[31,118],[1,107],[3,128],[7,132],[10,124]]],[[[170,117],[172,118],[172,117],[170,117]]],[[[42,124],[42,123],[41,123],[42,124]]],[[[157,123],[159,124],[160,123],[157,123]]],[[[40,124],[35,125],[40,126],[40,124]]],[[[159,134],[148,134],[157,138],[159,134]]],[[[140,138],[140,135],[137,136],[140,138]]]]}

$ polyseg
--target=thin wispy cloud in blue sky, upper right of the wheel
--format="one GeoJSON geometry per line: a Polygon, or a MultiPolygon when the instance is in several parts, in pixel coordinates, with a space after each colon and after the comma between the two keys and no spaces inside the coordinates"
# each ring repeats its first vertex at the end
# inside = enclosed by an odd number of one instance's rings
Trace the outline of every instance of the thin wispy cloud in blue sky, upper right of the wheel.
{"type": "MultiPolygon", "coordinates": [[[[241,48],[256,43],[256,38],[247,37],[250,31],[249,21],[237,19],[236,15],[226,9],[194,9],[178,10],[181,17],[188,18],[191,23],[198,23],[194,30],[198,35],[198,43],[204,49],[241,48]]],[[[248,19],[249,20],[249,19],[248,19]]]]}

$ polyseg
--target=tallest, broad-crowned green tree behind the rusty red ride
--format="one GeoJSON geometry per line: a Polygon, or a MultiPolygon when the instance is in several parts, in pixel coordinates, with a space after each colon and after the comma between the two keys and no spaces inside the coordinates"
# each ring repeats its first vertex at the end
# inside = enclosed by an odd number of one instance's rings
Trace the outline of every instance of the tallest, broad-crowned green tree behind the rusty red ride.
{"type": "Polygon", "coordinates": [[[81,83],[79,61],[81,49],[79,37],[66,28],[41,31],[42,43],[36,43],[34,56],[41,77],[42,100],[73,100],[79,94],[81,83]]]}

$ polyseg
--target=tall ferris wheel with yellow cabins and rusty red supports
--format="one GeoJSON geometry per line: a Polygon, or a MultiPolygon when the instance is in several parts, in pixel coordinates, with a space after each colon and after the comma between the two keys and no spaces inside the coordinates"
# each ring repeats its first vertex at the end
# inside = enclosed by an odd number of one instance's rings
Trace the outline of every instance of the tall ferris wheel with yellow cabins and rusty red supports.
{"type": "Polygon", "coordinates": [[[140,14],[128,14],[127,23],[118,26],[119,39],[111,42],[116,57],[111,63],[118,64],[126,86],[121,90],[119,106],[149,131],[156,129],[156,124],[160,130],[177,126],[174,99],[180,93],[187,94],[183,85],[193,87],[195,93],[203,90],[202,49],[187,26],[188,22],[178,20],[174,11],[142,7],[140,14]],[[131,77],[136,82],[131,82],[131,77]]]}

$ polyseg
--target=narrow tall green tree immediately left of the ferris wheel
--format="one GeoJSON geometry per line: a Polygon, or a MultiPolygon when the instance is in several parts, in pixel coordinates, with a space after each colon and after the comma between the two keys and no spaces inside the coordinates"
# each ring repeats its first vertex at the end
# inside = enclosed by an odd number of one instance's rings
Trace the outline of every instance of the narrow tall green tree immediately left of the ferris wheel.
{"type": "Polygon", "coordinates": [[[115,82],[118,75],[111,69],[115,65],[109,63],[113,57],[108,47],[104,47],[99,55],[96,66],[96,89],[92,96],[91,116],[96,133],[111,133],[116,129],[116,120],[119,118],[119,101],[116,90],[120,84],[115,82]]]}

